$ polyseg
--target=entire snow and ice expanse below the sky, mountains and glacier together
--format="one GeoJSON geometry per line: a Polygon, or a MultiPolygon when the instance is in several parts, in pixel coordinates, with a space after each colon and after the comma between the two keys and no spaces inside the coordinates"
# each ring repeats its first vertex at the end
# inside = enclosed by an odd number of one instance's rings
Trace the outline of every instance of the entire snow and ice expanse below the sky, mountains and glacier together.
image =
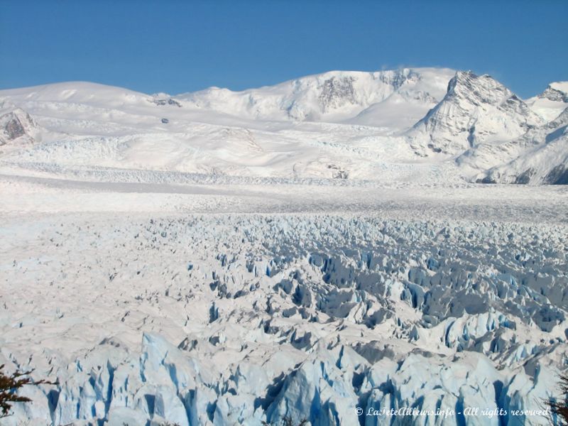
{"type": "Polygon", "coordinates": [[[0,364],[59,384],[0,425],[546,425],[566,90],[1,91],[0,364]]]}

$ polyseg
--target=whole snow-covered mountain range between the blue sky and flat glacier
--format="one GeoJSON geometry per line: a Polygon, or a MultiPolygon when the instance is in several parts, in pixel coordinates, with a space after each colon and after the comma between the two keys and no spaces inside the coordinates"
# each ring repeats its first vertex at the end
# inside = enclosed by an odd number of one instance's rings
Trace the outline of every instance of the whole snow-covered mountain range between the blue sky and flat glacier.
{"type": "Polygon", "coordinates": [[[333,71],[177,96],[66,82],[0,91],[0,161],[567,184],[567,108],[568,82],[523,100],[488,75],[442,68],[333,71]]]}

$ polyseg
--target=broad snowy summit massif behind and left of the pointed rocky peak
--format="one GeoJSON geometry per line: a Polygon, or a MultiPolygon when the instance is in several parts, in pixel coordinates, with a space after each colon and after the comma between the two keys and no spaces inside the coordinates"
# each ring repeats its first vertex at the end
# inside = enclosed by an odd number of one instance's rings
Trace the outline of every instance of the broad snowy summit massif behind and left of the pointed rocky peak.
{"type": "Polygon", "coordinates": [[[332,71],[243,92],[212,87],[177,99],[248,119],[349,121],[396,129],[439,102],[452,75],[454,70],[434,68],[332,71]]]}

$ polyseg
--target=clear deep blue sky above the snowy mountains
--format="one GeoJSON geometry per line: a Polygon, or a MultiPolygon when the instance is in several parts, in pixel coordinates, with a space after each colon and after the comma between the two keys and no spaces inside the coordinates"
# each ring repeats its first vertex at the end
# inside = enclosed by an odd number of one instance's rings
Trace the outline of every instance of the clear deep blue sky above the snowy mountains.
{"type": "Polygon", "coordinates": [[[443,66],[529,97],[568,80],[567,17],[567,0],[0,0],[0,88],[85,80],[177,94],[443,66]]]}

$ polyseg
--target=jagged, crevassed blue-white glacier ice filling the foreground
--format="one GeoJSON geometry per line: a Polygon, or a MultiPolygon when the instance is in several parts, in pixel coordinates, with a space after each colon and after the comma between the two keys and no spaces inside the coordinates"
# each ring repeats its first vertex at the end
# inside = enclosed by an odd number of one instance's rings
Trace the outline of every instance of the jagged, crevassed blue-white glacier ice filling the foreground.
{"type": "MultiPolygon", "coordinates": [[[[2,362],[61,384],[30,390],[33,405],[3,425],[390,425],[366,413],[510,413],[554,397],[568,356],[565,224],[72,220],[7,239],[3,286],[23,280],[3,297],[2,362]]],[[[414,420],[503,421],[460,418],[414,420]]]]}

